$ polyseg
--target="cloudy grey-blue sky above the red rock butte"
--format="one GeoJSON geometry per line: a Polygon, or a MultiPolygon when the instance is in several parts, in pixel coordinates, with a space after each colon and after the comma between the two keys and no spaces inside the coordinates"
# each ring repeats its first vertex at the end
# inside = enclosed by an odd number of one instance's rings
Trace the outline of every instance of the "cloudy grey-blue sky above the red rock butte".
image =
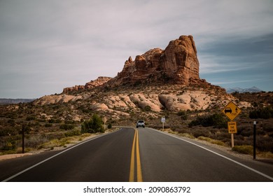
{"type": "Polygon", "coordinates": [[[0,98],[114,77],[125,60],[193,35],[200,78],[273,91],[273,0],[0,0],[0,98]]]}

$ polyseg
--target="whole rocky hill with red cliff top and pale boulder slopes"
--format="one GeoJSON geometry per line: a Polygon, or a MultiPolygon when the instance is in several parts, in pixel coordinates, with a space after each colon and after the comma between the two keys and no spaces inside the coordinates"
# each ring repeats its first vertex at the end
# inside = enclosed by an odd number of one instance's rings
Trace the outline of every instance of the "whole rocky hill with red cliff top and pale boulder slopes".
{"type": "MultiPolygon", "coordinates": [[[[170,41],[125,61],[115,78],[99,77],[85,85],[64,88],[62,94],[37,99],[35,105],[77,102],[92,111],[129,115],[130,111],[205,110],[223,107],[237,99],[221,87],[200,79],[193,36],[170,41]]],[[[238,102],[239,106],[249,106],[238,102]]]]}

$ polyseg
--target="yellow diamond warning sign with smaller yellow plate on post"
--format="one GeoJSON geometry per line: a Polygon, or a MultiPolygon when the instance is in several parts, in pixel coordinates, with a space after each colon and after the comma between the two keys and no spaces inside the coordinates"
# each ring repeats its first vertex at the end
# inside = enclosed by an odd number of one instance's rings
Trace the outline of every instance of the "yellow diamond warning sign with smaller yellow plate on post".
{"type": "Polygon", "coordinates": [[[233,134],[237,133],[237,124],[232,120],[234,120],[239,115],[239,113],[241,113],[241,110],[233,102],[230,102],[228,103],[227,106],[225,106],[222,112],[231,120],[231,122],[228,122],[228,132],[231,134],[231,146],[233,148],[234,147],[233,134]]]}

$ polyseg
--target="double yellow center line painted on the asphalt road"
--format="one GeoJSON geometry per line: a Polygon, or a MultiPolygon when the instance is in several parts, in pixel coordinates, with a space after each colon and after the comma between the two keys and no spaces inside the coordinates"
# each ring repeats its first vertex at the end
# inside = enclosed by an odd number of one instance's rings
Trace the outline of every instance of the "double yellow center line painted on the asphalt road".
{"type": "Polygon", "coordinates": [[[137,158],[137,182],[142,182],[143,179],[142,179],[140,153],[139,153],[139,131],[137,129],[134,129],[134,141],[132,146],[130,177],[129,177],[130,182],[134,182],[134,165],[135,165],[134,153],[136,153],[136,158],[137,158]]]}

